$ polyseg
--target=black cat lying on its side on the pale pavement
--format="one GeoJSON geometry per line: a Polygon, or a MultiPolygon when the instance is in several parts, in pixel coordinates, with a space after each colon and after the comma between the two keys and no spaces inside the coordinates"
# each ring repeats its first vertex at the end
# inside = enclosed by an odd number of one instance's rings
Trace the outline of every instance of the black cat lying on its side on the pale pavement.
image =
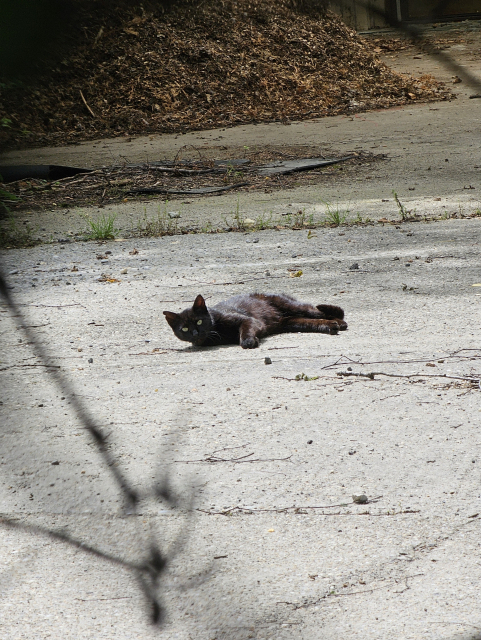
{"type": "Polygon", "coordinates": [[[313,306],[284,294],[250,293],[234,296],[207,309],[204,298],[181,313],[164,311],[180,340],[196,346],[240,344],[254,349],[259,340],[276,333],[336,334],[347,329],[340,307],[313,306]]]}

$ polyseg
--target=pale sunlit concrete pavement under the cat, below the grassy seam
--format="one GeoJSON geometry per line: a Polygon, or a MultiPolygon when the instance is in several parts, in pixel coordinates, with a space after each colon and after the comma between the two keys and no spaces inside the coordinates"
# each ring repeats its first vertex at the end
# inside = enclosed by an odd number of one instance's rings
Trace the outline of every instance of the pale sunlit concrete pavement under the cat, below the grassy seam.
{"type": "Polygon", "coordinates": [[[2,637],[475,637],[481,396],[442,376],[481,373],[480,230],[445,220],[6,252],[12,295],[118,468],[137,489],[167,469],[180,506],[123,513],[72,398],[3,306],[2,515],[129,561],[151,531],[178,553],[156,632],[127,569],[1,528],[2,637]],[[162,315],[198,293],[253,290],[339,304],[349,329],[197,349],[162,315]],[[348,367],[417,377],[337,375],[348,367]],[[359,494],[370,502],[353,504],[359,494]]]}

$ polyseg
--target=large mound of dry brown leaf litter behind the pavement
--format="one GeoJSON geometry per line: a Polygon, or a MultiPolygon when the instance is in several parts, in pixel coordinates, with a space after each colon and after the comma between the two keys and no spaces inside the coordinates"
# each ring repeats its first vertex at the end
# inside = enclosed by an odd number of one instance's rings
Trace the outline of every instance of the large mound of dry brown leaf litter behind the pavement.
{"type": "Polygon", "coordinates": [[[451,97],[402,76],[332,13],[275,0],[149,6],[79,2],[68,55],[0,94],[0,143],[64,144],[288,121],[451,97]],[[78,27],[81,27],[80,29],[78,27]]]}

